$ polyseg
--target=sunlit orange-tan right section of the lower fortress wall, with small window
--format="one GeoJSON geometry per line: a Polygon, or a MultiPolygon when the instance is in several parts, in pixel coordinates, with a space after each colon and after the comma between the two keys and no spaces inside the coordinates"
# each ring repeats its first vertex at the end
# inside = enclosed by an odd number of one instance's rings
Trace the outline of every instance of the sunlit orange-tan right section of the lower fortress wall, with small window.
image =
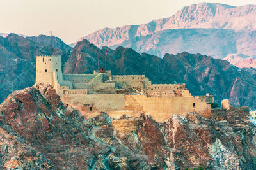
{"type": "Polygon", "coordinates": [[[173,114],[186,115],[189,111],[196,111],[205,118],[211,117],[211,105],[194,97],[127,95],[125,96],[125,110],[149,113],[157,122],[164,122],[173,114]],[[193,103],[195,103],[195,107],[193,107],[193,103]]]}

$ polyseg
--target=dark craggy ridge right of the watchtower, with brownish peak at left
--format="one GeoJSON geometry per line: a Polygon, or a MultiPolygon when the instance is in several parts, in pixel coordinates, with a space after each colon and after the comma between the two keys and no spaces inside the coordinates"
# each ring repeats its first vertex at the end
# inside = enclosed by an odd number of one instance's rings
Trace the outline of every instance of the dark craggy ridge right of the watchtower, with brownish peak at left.
{"type": "MultiPolygon", "coordinates": [[[[83,40],[75,46],[64,68],[65,73],[92,73],[104,66],[104,50],[83,40]]],[[[214,95],[216,101],[230,99],[236,106],[256,107],[256,79],[253,74],[229,62],[187,52],[164,55],[163,59],[131,48],[108,50],[108,69],[113,74],[145,74],[152,83],[186,83],[193,95],[214,95]]]]}

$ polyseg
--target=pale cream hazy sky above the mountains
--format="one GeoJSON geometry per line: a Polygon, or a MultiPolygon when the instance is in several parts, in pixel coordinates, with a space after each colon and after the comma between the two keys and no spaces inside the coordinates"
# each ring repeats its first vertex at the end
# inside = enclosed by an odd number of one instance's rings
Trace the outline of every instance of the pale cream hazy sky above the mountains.
{"type": "Polygon", "coordinates": [[[65,43],[73,43],[97,29],[170,17],[199,2],[256,4],[256,0],[0,0],[0,32],[37,36],[52,31],[65,43]]]}

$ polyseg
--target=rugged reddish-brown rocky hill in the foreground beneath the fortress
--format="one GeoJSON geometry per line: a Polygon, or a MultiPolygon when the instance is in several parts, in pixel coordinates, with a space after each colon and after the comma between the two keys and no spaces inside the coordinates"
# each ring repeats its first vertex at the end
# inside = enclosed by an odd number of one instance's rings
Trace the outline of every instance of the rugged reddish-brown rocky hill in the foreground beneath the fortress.
{"type": "Polygon", "coordinates": [[[49,85],[13,92],[0,105],[0,169],[255,169],[256,131],[197,113],[157,123],[84,118],[49,85]]]}

